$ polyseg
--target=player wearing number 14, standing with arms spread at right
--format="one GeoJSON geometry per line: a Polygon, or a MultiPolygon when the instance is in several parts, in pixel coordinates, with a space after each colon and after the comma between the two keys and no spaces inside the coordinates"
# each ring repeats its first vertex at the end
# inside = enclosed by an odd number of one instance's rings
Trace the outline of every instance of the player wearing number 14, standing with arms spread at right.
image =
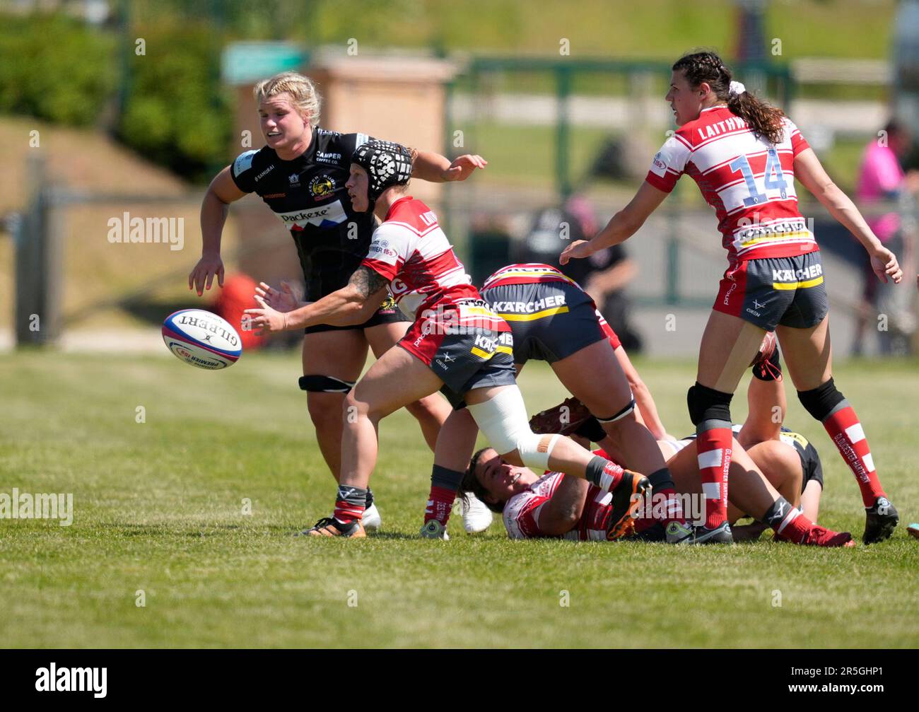
{"type": "Polygon", "coordinates": [[[697,381],[687,394],[708,503],[697,539],[731,541],[731,399],[767,331],[777,333],[801,404],[823,423],[856,476],[866,510],[863,541],[890,537],[897,512],[881,488],[862,425],[834,384],[823,266],[798,209],[795,178],[857,237],[882,282],[901,281],[896,256],[826,175],[798,128],[732,82],[716,53],[695,52],[675,62],[666,100],[679,129],[654,156],[645,182],[592,240],[569,245],[561,262],[627,240],[680,175],[690,175],[716,210],[729,266],[702,335],[697,381]]]}

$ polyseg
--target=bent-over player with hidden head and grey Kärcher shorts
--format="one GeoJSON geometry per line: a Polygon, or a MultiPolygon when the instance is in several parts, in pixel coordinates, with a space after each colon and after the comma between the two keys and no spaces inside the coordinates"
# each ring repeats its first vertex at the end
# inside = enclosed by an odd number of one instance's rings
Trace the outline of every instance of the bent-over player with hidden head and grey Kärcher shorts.
{"type": "MultiPolygon", "coordinates": [[[[548,361],[565,388],[595,415],[602,431],[622,453],[621,461],[629,462],[629,469],[649,473],[654,491],[669,496],[666,506],[658,510],[667,541],[703,543],[686,523],[661,450],[639,414],[645,413],[655,432],[665,435],[651,394],[625,356],[616,333],[596,310],[594,300],[555,267],[537,263],[499,269],[485,280],[481,294],[510,326],[516,372],[530,359],[548,361]],[[620,365],[618,355],[628,371],[620,365]],[[632,385],[641,397],[638,410],[632,385]]],[[[563,425],[560,418],[548,430],[559,430],[563,425]]],[[[447,526],[450,504],[469,466],[476,435],[475,420],[464,410],[451,413],[441,428],[431,499],[425,511],[425,526],[430,532],[447,526]],[[448,446],[440,447],[441,443],[448,446]]]]}

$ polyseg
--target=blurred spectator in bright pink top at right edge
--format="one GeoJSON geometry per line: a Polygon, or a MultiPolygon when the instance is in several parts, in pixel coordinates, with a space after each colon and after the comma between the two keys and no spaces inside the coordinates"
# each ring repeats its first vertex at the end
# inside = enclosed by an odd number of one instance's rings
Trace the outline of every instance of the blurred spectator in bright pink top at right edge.
{"type": "MultiPolygon", "coordinates": [[[[872,214],[872,204],[899,202],[901,209],[910,209],[911,198],[919,190],[919,172],[904,174],[902,162],[909,155],[912,144],[910,131],[904,124],[892,119],[884,127],[879,139],[868,143],[856,187],[856,198],[860,207],[866,209],[868,226],[880,242],[897,255],[904,270],[913,264],[913,240],[904,240],[905,229],[912,220],[904,224],[901,210],[896,207],[882,212],[879,210],[882,206],[877,206],[872,214]]],[[[915,331],[913,295],[907,295],[909,290],[896,288],[892,283],[885,285],[879,282],[867,258],[864,265],[863,301],[852,353],[855,356],[862,354],[868,322],[873,321],[876,312],[886,315],[888,329],[886,333],[879,331],[881,353],[907,353],[910,335],[915,331]]]]}

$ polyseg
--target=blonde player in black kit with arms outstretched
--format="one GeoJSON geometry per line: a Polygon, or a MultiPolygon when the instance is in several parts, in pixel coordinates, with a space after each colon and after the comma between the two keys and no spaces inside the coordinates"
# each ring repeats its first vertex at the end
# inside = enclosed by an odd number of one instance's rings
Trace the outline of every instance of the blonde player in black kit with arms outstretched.
{"type": "MultiPolygon", "coordinates": [[[[254,94],[266,145],[241,153],[211,181],[201,205],[201,259],[188,275],[188,288],[201,295],[214,277],[223,286],[221,232],[229,204],[254,192],[289,228],[306,282],[306,299],[320,299],[347,284],[369,248],[373,216],[353,209],[345,188],[351,154],[369,137],[319,128],[321,97],[302,74],[277,74],[258,82],[254,94]]],[[[439,153],[409,151],[412,175],[427,181],[465,180],[485,165],[478,155],[459,156],[450,163],[439,153]]],[[[286,284],[280,289],[263,285],[262,294],[279,309],[299,304],[286,284]]],[[[345,394],[360,376],[368,349],[379,357],[403,337],[408,324],[388,299],[364,322],[315,323],[305,330],[300,388],[306,391],[319,449],[335,480],[341,469],[340,413],[345,394]]],[[[433,449],[448,404],[435,396],[409,403],[407,409],[433,449]]],[[[380,526],[371,492],[367,505],[368,526],[380,526]]]]}

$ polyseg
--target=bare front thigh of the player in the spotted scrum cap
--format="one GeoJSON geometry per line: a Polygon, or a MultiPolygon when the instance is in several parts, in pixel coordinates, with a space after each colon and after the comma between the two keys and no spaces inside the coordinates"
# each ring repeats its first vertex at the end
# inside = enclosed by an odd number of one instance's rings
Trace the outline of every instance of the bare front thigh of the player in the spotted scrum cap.
{"type": "Polygon", "coordinates": [[[391,348],[357,381],[347,403],[371,417],[383,418],[431,395],[443,384],[421,359],[401,347],[391,348]]]}

